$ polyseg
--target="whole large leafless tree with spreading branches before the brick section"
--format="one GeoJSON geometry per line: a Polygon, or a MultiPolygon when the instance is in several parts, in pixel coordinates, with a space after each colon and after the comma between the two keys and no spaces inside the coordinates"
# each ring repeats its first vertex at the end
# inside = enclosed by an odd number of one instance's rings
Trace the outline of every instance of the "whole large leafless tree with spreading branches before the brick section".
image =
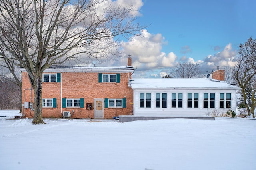
{"type": "Polygon", "coordinates": [[[4,60],[28,72],[34,90],[34,124],[42,120],[42,73],[78,56],[119,56],[118,38],[144,27],[133,6],[108,0],[0,0],[0,46],[4,60]]]}

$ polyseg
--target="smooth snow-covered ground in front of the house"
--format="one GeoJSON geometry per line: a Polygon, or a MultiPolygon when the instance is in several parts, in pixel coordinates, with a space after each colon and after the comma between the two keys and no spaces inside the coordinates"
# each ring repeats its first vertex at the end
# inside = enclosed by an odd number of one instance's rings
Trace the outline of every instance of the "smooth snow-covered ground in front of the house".
{"type": "MultiPolygon", "coordinates": [[[[4,111],[0,111],[0,113],[4,111]]],[[[0,117],[1,170],[255,170],[256,120],[0,117]],[[90,121],[90,122],[89,122],[90,121]]]]}

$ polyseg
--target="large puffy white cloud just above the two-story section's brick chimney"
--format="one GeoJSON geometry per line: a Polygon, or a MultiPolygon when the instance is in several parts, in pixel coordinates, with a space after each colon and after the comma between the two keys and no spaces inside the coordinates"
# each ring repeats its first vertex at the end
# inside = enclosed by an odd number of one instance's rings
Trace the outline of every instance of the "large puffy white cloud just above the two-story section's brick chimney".
{"type": "Polygon", "coordinates": [[[170,52],[161,52],[164,37],[162,34],[150,34],[142,30],[141,36],[134,36],[128,42],[122,42],[125,54],[132,54],[132,66],[139,70],[151,70],[174,66],[177,56],[170,52]]]}

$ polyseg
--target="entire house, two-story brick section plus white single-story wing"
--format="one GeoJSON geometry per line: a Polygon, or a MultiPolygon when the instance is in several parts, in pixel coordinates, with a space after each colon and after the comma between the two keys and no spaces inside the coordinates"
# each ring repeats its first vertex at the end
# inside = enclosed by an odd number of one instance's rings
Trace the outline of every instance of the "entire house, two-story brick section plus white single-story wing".
{"type": "MultiPolygon", "coordinates": [[[[33,117],[34,92],[22,71],[24,117],[33,117]],[[32,104],[32,105],[30,105],[32,104]]],[[[133,79],[132,59],[127,66],[52,67],[44,71],[44,118],[113,118],[135,116],[205,116],[236,110],[240,88],[224,81],[225,70],[212,79],[133,79]]]]}

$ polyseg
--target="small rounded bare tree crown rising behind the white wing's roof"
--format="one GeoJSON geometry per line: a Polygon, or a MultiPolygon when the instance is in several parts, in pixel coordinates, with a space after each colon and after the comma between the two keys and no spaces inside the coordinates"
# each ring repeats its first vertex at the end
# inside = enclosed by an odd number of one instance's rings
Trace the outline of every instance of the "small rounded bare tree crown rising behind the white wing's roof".
{"type": "Polygon", "coordinates": [[[175,68],[169,72],[169,75],[173,78],[198,78],[200,73],[199,64],[178,62],[175,68]]]}

